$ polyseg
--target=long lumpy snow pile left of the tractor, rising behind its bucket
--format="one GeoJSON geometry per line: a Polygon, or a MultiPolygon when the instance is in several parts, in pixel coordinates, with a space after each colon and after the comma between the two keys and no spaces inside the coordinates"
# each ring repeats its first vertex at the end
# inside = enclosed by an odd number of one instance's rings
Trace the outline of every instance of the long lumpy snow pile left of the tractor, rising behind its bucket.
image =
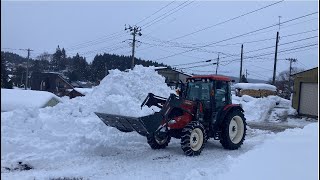
{"type": "Polygon", "coordinates": [[[71,156],[113,153],[115,144],[120,147],[137,142],[145,144],[145,138],[137,133],[122,133],[106,126],[94,112],[151,114],[151,108],[140,108],[149,92],[167,97],[173,91],[153,69],[136,66],[129,72],[110,71],[100,85],[84,97],[55,107],[2,113],[2,168],[22,161],[41,169],[71,156]]]}

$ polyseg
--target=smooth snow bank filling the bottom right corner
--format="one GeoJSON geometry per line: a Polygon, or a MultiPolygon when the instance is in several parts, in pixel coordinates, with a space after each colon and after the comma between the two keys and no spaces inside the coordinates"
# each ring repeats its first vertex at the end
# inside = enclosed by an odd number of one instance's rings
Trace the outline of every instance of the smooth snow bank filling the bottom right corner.
{"type": "Polygon", "coordinates": [[[234,160],[213,179],[318,179],[318,123],[286,130],[234,160]]]}

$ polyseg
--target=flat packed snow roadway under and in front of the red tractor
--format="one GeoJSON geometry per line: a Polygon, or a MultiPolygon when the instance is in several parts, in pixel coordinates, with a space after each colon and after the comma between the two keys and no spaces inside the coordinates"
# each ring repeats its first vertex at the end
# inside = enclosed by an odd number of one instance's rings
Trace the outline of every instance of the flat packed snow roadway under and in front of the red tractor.
{"type": "MultiPolygon", "coordinates": [[[[107,127],[105,127],[107,128],[107,127]]],[[[114,132],[118,133],[117,130],[114,132]]],[[[120,135],[120,134],[119,134],[120,135]]],[[[126,140],[117,145],[109,144],[94,152],[66,153],[61,150],[53,157],[26,160],[34,169],[29,171],[2,172],[4,179],[50,179],[82,177],[89,179],[194,179],[207,173],[227,171],[232,159],[260,144],[268,135],[248,130],[245,144],[237,151],[227,151],[219,142],[209,140],[202,154],[186,157],[180,141],[172,139],[166,149],[152,150],[146,139],[137,133],[126,133],[126,140]],[[209,172],[201,170],[210,168],[209,172]]],[[[117,141],[117,140],[115,140],[117,141]]],[[[94,145],[93,145],[94,146],[94,145]]],[[[33,156],[37,156],[34,154],[33,156]]],[[[28,157],[25,157],[29,159],[28,157]]],[[[208,177],[208,176],[207,176],[208,177]]],[[[209,177],[208,177],[209,178],[209,177]]]]}

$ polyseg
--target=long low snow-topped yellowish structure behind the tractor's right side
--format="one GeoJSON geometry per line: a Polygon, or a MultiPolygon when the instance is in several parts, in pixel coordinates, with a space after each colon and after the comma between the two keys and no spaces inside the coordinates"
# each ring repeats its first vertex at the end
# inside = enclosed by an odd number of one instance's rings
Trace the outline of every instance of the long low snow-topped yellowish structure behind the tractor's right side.
{"type": "Polygon", "coordinates": [[[236,96],[249,95],[260,98],[277,94],[275,86],[265,83],[237,83],[234,88],[236,96]]]}

